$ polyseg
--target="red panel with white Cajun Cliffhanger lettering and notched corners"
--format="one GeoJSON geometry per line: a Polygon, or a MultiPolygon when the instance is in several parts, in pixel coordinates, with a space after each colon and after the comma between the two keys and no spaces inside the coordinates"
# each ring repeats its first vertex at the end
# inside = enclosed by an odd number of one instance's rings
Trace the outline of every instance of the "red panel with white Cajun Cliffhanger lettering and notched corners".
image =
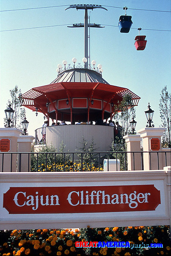
{"type": "Polygon", "coordinates": [[[91,187],[10,187],[3,195],[9,214],[155,211],[154,185],[91,187]]]}

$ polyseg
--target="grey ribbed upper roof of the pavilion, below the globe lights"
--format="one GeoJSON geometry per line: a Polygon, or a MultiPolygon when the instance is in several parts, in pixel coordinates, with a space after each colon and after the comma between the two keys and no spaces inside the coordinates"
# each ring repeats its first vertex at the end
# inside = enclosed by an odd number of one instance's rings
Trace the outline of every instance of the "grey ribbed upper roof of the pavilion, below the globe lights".
{"type": "Polygon", "coordinates": [[[51,83],[61,82],[91,82],[109,84],[102,78],[100,73],[91,69],[69,69],[61,72],[58,77],[51,83]]]}

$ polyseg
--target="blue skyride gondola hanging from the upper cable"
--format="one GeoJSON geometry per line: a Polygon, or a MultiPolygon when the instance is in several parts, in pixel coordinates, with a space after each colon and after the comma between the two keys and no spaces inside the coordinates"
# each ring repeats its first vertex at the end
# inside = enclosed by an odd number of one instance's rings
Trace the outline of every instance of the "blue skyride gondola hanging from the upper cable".
{"type": "Polygon", "coordinates": [[[121,33],[129,33],[129,30],[133,24],[131,20],[132,16],[127,16],[126,14],[126,10],[128,9],[127,7],[124,7],[123,9],[125,10],[125,15],[121,15],[119,17],[118,27],[121,33]]]}

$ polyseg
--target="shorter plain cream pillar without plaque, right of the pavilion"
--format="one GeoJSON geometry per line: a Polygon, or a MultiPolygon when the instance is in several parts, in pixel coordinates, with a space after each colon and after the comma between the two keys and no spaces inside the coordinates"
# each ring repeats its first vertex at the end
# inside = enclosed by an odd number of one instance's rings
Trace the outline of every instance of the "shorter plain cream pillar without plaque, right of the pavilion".
{"type": "MultiPolygon", "coordinates": [[[[141,152],[140,134],[130,134],[123,137],[127,143],[128,152],[141,152]]],[[[127,153],[128,171],[139,171],[141,168],[141,153],[127,153]]]]}

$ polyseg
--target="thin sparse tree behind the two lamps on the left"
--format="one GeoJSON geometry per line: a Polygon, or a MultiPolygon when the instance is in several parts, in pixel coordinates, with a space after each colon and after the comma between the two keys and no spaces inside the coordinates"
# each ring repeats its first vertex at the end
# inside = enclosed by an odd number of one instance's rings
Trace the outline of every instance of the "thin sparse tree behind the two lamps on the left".
{"type": "MultiPolygon", "coordinates": [[[[11,107],[14,110],[13,119],[11,120],[12,127],[21,128],[21,122],[25,118],[25,108],[22,107],[22,93],[21,90],[18,89],[18,86],[16,85],[14,89],[9,90],[11,99],[8,100],[8,104],[6,105],[8,107],[9,102],[11,103],[11,107]]],[[[4,126],[8,126],[8,122],[6,120],[6,117],[4,118],[4,126]]]]}

